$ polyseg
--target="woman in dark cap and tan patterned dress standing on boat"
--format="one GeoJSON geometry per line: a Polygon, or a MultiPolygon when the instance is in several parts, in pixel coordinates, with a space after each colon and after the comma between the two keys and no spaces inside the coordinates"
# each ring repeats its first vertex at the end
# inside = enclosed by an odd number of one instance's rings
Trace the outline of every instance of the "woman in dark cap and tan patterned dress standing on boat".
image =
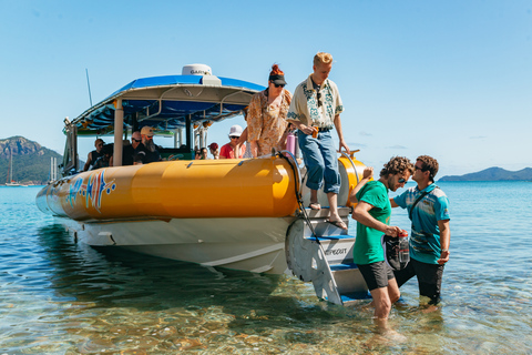
{"type": "Polygon", "coordinates": [[[252,97],[246,121],[253,158],[272,154],[272,149],[285,149],[288,134],[286,114],[291,101],[291,93],[284,89],[285,85],[285,73],[274,64],[268,88],[252,97]]]}

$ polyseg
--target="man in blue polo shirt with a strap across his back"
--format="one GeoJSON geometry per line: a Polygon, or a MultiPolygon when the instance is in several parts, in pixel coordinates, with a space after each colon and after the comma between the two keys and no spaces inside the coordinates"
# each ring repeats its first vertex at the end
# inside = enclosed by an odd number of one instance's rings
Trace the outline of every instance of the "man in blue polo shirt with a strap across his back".
{"type": "Polygon", "coordinates": [[[417,276],[419,293],[429,297],[431,305],[440,301],[443,267],[449,261],[451,241],[449,200],[434,184],[438,168],[436,159],[418,156],[412,175],[418,185],[390,199],[392,207],[407,209],[412,222],[410,263],[406,268],[395,272],[397,284],[400,287],[417,276]]]}

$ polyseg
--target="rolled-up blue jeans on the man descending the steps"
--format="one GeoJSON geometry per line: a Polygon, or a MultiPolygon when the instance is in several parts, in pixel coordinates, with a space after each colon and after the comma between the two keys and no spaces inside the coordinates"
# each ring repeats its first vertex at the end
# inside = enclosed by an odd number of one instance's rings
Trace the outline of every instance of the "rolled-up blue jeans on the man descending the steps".
{"type": "Polygon", "coordinates": [[[307,187],[324,192],[340,192],[340,174],[338,173],[338,159],[336,156],[335,142],[330,131],[319,132],[318,138],[297,132],[299,149],[307,165],[307,187]]]}

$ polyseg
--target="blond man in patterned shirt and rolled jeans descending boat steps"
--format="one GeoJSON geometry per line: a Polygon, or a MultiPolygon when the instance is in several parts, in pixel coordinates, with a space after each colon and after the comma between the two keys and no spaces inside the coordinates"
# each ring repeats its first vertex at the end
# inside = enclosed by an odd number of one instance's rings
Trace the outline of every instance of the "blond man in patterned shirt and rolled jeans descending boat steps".
{"type": "Polygon", "coordinates": [[[337,85],[328,79],[331,69],[332,55],[319,52],[314,57],[314,72],[297,85],[287,120],[298,130],[299,149],[307,166],[306,185],[310,189],[309,207],[321,209],[318,204],[318,190],[324,186],[329,202],[328,222],[347,230],[338,214],[340,174],[330,131],[336,128],[340,151],[344,148],[349,154],[349,148],[341,132],[340,113],[344,105],[340,94],[337,85]]]}

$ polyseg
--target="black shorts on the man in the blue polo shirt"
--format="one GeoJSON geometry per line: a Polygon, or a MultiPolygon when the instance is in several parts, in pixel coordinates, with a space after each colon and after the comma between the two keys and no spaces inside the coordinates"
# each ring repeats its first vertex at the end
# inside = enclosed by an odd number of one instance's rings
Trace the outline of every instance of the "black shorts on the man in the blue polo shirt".
{"type": "Polygon", "coordinates": [[[413,276],[418,277],[419,294],[430,298],[430,304],[440,302],[441,278],[443,277],[443,266],[440,264],[427,264],[410,258],[407,267],[401,271],[395,271],[397,285],[400,287],[413,276]]]}

